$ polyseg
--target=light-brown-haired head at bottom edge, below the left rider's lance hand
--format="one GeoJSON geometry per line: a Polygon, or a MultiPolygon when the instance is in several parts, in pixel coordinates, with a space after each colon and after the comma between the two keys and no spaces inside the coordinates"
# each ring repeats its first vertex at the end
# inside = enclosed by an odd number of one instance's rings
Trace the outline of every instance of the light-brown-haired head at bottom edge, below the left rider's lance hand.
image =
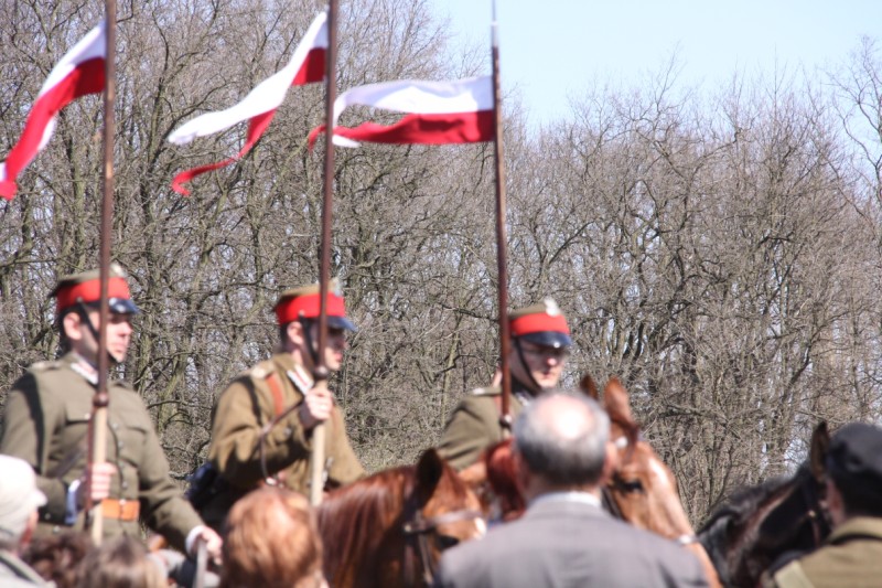
{"type": "Polygon", "coordinates": [[[78,588],[168,588],[165,576],[139,541],[121,535],[93,549],[79,570],[78,588]]]}

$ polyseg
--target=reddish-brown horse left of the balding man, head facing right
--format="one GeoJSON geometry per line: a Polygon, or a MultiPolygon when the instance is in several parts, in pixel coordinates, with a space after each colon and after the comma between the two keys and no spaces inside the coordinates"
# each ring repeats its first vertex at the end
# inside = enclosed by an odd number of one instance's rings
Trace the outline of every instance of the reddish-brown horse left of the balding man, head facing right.
{"type": "Polygon", "coordinates": [[[334,588],[431,585],[441,552],[480,537],[481,503],[429,449],[417,466],[333,491],[319,507],[324,573],[334,588]]]}

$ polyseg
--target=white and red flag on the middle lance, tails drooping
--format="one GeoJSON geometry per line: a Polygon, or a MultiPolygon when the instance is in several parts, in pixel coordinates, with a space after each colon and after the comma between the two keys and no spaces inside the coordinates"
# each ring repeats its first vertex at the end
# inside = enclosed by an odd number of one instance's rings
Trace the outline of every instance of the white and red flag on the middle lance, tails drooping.
{"type": "Polygon", "coordinates": [[[172,180],[172,189],[179,194],[190,194],[190,191],[183,186],[184,182],[241,159],[269,127],[272,117],[276,115],[276,109],[284,101],[289,87],[302,86],[324,79],[326,51],[327,15],[322,12],[312,21],[306,34],[300,41],[293,55],[291,55],[291,61],[288,62],[288,65],[255,86],[237,105],[226,110],[206,113],[185,122],[172,132],[169,136],[169,141],[175,145],[186,145],[196,137],[214,135],[238,122],[249,120],[245,146],[238,153],[224,161],[179,173],[172,180]]]}

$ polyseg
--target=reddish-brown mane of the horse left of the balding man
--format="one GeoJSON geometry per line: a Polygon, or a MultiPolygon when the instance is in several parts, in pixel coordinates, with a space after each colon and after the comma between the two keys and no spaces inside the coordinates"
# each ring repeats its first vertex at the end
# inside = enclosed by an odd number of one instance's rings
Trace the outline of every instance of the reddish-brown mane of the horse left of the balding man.
{"type": "Polygon", "coordinates": [[[337,578],[333,585],[352,586],[366,574],[365,566],[377,564],[365,559],[378,553],[400,518],[405,498],[413,490],[413,466],[385,470],[340,488],[322,501],[319,528],[324,545],[333,546],[324,549],[324,569],[352,576],[337,578]]]}

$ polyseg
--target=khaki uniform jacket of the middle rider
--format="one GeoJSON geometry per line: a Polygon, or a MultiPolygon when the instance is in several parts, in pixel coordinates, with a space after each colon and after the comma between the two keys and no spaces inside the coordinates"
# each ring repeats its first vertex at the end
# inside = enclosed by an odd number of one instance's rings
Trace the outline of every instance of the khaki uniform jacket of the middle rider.
{"type": "MultiPolygon", "coordinates": [[[[311,386],[303,367],[297,365],[290,354],[278,353],[241,374],[217,398],[212,415],[208,459],[232,488],[226,492],[227,500],[218,498],[203,511],[209,524],[216,525],[235,499],[263,481],[258,443],[260,431],[280,411],[279,408],[300,404],[311,386]],[[273,377],[281,393],[278,400],[270,382],[273,377]]],[[[277,475],[290,490],[306,494],[312,440],[298,413],[291,411],[267,436],[263,447],[266,473],[277,475]]],[[[325,431],[329,484],[343,485],[364,477],[365,470],[349,445],[343,414],[336,406],[325,431]]]]}

